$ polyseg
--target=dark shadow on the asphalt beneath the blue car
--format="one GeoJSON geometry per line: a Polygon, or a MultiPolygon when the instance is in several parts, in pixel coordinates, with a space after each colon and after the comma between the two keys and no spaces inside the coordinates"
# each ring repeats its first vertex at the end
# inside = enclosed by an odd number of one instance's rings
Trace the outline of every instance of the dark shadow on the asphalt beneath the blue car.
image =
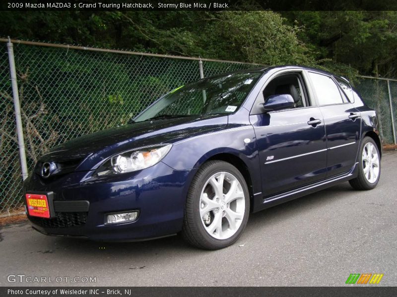
{"type": "MultiPolygon", "coordinates": [[[[265,209],[257,213],[251,213],[244,231],[244,234],[255,236],[258,232],[258,226],[261,229],[266,229],[270,224],[282,224],[282,221],[289,218],[291,215],[302,216],[306,212],[313,211],[316,208],[322,208],[331,203],[331,201],[344,199],[344,194],[353,192],[354,190],[348,183],[333,186],[329,189],[294,199],[292,201],[282,203],[271,208],[265,209]]],[[[143,242],[126,242],[126,243],[102,243],[93,242],[83,239],[51,237],[57,248],[67,250],[71,253],[94,253],[96,255],[113,255],[117,254],[135,254],[136,256],[143,254],[158,254],[167,251],[180,252],[183,254],[186,251],[190,253],[196,252],[198,254],[207,252],[186,244],[181,235],[166,237],[162,239],[143,241],[143,242]]],[[[234,246],[238,246],[238,242],[234,246]]],[[[233,246],[232,246],[233,247],[233,246]]],[[[227,247],[232,248],[232,247],[227,247]]],[[[216,252],[216,251],[214,251],[216,252]]],[[[139,267],[138,267],[139,268],[139,267]]],[[[137,268],[136,268],[137,269],[137,268]]]]}

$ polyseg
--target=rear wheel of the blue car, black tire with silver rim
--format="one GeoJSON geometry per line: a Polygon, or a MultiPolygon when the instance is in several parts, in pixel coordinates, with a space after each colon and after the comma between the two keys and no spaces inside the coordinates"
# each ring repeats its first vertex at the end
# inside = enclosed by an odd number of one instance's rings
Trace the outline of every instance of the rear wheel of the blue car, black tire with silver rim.
{"type": "Polygon", "coordinates": [[[374,189],[381,176],[381,155],[378,146],[371,137],[364,137],[358,157],[358,176],[350,180],[349,183],[356,190],[374,189]],[[372,151],[369,152],[371,148],[372,151]],[[371,158],[368,157],[368,153],[371,158]]]}

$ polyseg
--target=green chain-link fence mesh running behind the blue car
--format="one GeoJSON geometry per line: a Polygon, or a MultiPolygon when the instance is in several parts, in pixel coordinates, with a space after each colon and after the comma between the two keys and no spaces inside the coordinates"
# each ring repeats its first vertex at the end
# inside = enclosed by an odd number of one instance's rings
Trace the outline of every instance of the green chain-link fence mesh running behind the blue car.
{"type": "MultiPolygon", "coordinates": [[[[0,215],[4,215],[23,211],[23,196],[8,53],[1,41],[0,215]]],[[[13,46],[29,170],[48,149],[125,124],[159,96],[200,78],[199,59],[22,42],[13,46]]],[[[256,66],[202,61],[204,76],[256,66]]],[[[356,89],[379,112],[384,141],[392,143],[387,81],[359,78],[356,89]]],[[[396,112],[396,81],[390,81],[390,89],[396,112]]]]}

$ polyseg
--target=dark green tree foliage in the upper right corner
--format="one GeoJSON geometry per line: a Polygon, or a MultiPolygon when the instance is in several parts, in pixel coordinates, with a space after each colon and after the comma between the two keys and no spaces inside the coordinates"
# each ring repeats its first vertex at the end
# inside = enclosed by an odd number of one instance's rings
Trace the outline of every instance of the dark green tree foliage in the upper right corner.
{"type": "Polygon", "coordinates": [[[290,11],[283,15],[290,24],[304,28],[298,37],[314,50],[315,58],[331,60],[338,72],[350,66],[361,74],[397,76],[397,11],[290,11]]]}

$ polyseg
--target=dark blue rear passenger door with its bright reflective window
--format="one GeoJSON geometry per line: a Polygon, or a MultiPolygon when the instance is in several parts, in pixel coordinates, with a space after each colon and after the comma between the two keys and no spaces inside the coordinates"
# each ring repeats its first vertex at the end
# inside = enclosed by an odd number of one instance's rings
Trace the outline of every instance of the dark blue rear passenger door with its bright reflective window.
{"type": "Polygon", "coordinates": [[[308,76],[326,125],[327,178],[347,173],[355,164],[361,131],[351,87],[320,72],[308,71],[308,76]]]}

